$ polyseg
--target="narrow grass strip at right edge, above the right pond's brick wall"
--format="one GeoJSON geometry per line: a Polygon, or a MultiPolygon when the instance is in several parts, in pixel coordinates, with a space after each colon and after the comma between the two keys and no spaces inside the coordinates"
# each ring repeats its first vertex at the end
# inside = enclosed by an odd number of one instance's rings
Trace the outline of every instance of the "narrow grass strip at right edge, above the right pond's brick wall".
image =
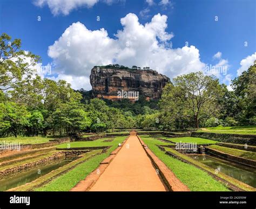
{"type": "Polygon", "coordinates": [[[230,155],[234,155],[234,156],[238,156],[238,157],[253,159],[254,161],[256,161],[256,152],[221,147],[221,146],[215,145],[215,144],[208,146],[208,148],[212,148],[212,149],[215,149],[215,150],[218,150],[221,152],[225,152],[226,154],[230,154],[230,155]]]}

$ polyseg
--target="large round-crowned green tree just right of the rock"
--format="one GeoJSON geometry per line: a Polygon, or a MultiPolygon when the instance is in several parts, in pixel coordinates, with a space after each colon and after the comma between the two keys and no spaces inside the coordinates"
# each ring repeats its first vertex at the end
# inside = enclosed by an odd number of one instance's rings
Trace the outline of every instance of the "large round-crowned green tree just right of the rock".
{"type": "Polygon", "coordinates": [[[218,115],[222,93],[218,79],[212,76],[202,72],[180,75],[173,79],[173,86],[166,85],[159,106],[171,112],[174,123],[182,120],[199,128],[201,121],[218,115]]]}

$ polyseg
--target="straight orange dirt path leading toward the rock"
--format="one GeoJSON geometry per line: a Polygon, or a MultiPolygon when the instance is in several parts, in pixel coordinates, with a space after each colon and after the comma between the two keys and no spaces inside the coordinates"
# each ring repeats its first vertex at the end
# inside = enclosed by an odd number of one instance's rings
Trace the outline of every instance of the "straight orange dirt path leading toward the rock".
{"type": "Polygon", "coordinates": [[[124,146],[90,191],[166,191],[138,137],[124,146]]]}

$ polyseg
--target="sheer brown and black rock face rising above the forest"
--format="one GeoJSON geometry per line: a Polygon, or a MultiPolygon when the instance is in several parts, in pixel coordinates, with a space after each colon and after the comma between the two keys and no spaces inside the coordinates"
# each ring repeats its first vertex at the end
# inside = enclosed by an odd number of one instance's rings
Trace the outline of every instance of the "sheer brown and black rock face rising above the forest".
{"type": "Polygon", "coordinates": [[[170,79],[152,69],[120,69],[93,67],[90,75],[94,97],[118,100],[159,99],[162,89],[170,79]]]}

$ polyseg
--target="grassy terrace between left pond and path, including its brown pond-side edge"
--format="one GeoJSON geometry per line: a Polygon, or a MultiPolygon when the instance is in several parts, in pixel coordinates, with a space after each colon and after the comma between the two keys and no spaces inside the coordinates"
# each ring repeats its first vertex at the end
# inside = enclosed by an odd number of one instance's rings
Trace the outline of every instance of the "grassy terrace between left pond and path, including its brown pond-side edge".
{"type": "Polygon", "coordinates": [[[118,147],[125,137],[115,137],[113,141],[104,142],[108,138],[100,138],[95,141],[70,142],[57,145],[59,151],[87,150],[78,159],[64,165],[57,170],[39,177],[31,183],[11,189],[11,191],[69,191],[80,180],[97,168],[111,152],[118,147]],[[70,145],[70,149],[67,149],[70,145]],[[97,148],[97,149],[95,149],[97,148]],[[108,148],[108,149],[103,149],[108,148]],[[65,184],[64,184],[65,183],[65,184]]]}

